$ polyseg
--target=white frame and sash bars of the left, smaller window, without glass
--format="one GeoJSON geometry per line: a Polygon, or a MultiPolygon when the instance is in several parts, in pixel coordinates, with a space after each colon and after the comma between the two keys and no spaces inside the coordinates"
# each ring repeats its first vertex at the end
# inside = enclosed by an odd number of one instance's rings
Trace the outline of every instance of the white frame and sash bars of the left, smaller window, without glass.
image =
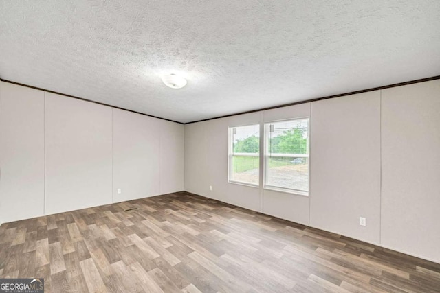
{"type": "Polygon", "coordinates": [[[259,143],[259,152],[237,152],[234,153],[234,128],[240,128],[240,127],[245,127],[245,126],[258,126],[259,127],[259,141],[261,141],[261,123],[257,123],[257,124],[244,124],[244,125],[239,125],[239,126],[228,126],[228,183],[232,183],[232,184],[236,184],[236,185],[245,185],[245,186],[249,186],[249,187],[260,187],[260,183],[261,183],[261,143],[259,143]],[[231,179],[231,175],[232,175],[232,161],[234,159],[234,156],[256,156],[258,157],[258,161],[259,161],[259,180],[258,183],[254,184],[254,183],[248,183],[248,182],[244,182],[244,181],[237,181],[237,180],[232,180],[231,179]]]}

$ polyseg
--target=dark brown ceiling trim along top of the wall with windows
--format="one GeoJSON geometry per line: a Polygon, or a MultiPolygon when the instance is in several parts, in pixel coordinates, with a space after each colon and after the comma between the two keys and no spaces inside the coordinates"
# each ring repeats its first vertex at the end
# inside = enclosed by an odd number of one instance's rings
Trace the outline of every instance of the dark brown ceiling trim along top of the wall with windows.
{"type": "Polygon", "coordinates": [[[283,107],[287,107],[287,106],[305,104],[305,103],[309,103],[309,102],[316,102],[316,101],[320,101],[321,99],[333,99],[335,97],[344,97],[345,95],[355,95],[357,93],[366,93],[369,91],[379,91],[382,89],[390,89],[390,88],[393,88],[396,86],[406,86],[408,84],[417,84],[419,82],[429,82],[430,80],[440,80],[440,75],[432,76],[432,78],[421,78],[419,80],[411,80],[409,82],[399,82],[398,84],[389,84],[386,86],[378,86],[375,88],[363,89],[360,91],[351,91],[349,93],[340,93],[338,95],[329,95],[327,97],[316,97],[315,99],[306,99],[305,101],[283,104],[283,105],[279,105],[279,106],[272,106],[272,107],[267,107],[267,108],[261,108],[261,109],[256,109],[256,110],[250,110],[250,111],[245,111],[245,112],[240,112],[240,113],[235,113],[235,114],[230,114],[230,115],[224,115],[224,116],[219,116],[219,117],[214,117],[214,118],[208,118],[208,119],[203,119],[203,120],[197,120],[197,121],[192,121],[192,122],[186,122],[184,124],[186,125],[186,124],[192,124],[192,123],[197,123],[197,122],[209,121],[209,120],[213,120],[213,119],[220,119],[220,118],[231,117],[231,116],[236,116],[236,115],[243,115],[243,114],[255,113],[255,112],[260,112],[260,111],[265,111],[265,110],[272,110],[272,109],[276,109],[276,108],[283,108],[283,107]]]}

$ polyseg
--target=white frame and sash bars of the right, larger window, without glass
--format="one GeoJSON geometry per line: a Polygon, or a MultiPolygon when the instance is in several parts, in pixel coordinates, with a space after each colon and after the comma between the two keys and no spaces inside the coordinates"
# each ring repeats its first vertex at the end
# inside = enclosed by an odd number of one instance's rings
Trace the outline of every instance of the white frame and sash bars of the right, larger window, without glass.
{"type": "MultiPolygon", "coordinates": [[[[288,119],[280,119],[273,121],[265,121],[263,124],[263,189],[284,192],[287,194],[295,194],[298,196],[309,196],[310,193],[310,117],[295,117],[288,119]],[[307,158],[308,159],[308,168],[307,168],[307,181],[308,181],[308,191],[303,191],[299,189],[292,189],[288,187],[279,187],[274,185],[268,185],[268,176],[269,176],[269,158],[274,157],[274,154],[270,154],[269,150],[269,138],[270,138],[270,126],[271,124],[276,124],[278,122],[286,122],[286,121],[296,121],[296,120],[304,120],[307,119],[307,154],[275,154],[277,157],[292,157],[292,158],[307,158]]],[[[260,150],[261,152],[261,150],[260,150]]]]}

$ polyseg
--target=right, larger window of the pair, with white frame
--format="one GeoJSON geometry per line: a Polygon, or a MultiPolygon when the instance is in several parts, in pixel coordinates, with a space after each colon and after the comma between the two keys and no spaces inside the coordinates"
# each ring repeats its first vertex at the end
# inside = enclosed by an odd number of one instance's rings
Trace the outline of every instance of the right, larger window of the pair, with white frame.
{"type": "Polygon", "coordinates": [[[309,119],[265,124],[265,188],[309,193],[309,119]]]}

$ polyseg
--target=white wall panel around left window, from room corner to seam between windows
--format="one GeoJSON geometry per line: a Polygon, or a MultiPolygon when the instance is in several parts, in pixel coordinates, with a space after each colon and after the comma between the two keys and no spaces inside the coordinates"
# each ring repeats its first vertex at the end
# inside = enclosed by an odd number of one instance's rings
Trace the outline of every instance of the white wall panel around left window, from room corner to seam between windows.
{"type": "Polygon", "coordinates": [[[185,190],[259,211],[259,188],[228,183],[228,126],[260,121],[260,113],[251,113],[186,125],[185,190]]]}

